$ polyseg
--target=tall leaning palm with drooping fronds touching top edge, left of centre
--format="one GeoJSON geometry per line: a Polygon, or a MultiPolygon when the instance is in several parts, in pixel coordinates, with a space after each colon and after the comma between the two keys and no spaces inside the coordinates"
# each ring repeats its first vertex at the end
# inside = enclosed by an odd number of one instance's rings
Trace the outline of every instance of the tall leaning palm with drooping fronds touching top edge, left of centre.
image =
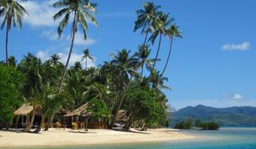
{"type": "Polygon", "coordinates": [[[70,15],[73,15],[72,32],[70,36],[71,46],[67,57],[67,63],[61,77],[61,83],[59,85],[60,92],[62,83],[64,82],[64,78],[67,72],[67,66],[73,51],[73,42],[75,38],[75,33],[78,31],[78,26],[80,25],[82,31],[84,32],[84,40],[87,39],[87,22],[85,18],[90,20],[95,26],[97,26],[97,21],[93,16],[93,13],[96,13],[96,3],[90,3],[89,0],[59,0],[58,2],[53,4],[53,7],[61,8],[61,10],[54,15],[54,20],[58,20],[64,15],[64,18],[63,20],[61,20],[61,23],[58,27],[59,37],[61,37],[64,28],[67,26],[70,15]]]}

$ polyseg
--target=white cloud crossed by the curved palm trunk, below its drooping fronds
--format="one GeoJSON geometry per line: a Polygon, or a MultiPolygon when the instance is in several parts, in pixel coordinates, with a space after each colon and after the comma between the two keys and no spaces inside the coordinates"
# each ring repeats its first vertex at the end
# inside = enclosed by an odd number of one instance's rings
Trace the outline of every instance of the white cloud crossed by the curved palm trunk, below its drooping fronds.
{"type": "MultiPolygon", "coordinates": [[[[66,37],[67,41],[70,41],[70,36],[66,37]]],[[[96,41],[90,37],[87,37],[87,40],[84,40],[84,35],[81,32],[77,32],[74,39],[75,45],[91,45],[96,43],[96,41]]]]}

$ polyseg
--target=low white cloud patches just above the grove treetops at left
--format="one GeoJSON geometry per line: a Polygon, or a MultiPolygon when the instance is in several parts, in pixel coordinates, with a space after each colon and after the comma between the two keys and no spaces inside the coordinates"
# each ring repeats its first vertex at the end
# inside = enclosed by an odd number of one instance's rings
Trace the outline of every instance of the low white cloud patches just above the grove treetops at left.
{"type": "MultiPolygon", "coordinates": [[[[38,58],[40,58],[41,60],[49,60],[49,56],[51,54],[49,54],[49,50],[40,50],[38,51],[38,53],[36,54],[38,56],[38,58]]],[[[67,53],[58,53],[58,55],[60,55],[61,57],[61,63],[63,63],[64,65],[66,64],[67,62],[67,56],[68,56],[68,52],[67,53]]],[[[71,54],[71,58],[69,60],[69,65],[68,66],[73,66],[74,63],[76,61],[81,61],[81,57],[83,56],[83,54],[76,54],[73,52],[73,54],[71,54]]],[[[96,58],[93,57],[94,60],[90,60],[88,59],[88,67],[95,67],[96,66],[96,63],[95,63],[95,60],[96,58]]],[[[85,67],[84,65],[84,61],[81,62],[82,66],[85,67]]]]}

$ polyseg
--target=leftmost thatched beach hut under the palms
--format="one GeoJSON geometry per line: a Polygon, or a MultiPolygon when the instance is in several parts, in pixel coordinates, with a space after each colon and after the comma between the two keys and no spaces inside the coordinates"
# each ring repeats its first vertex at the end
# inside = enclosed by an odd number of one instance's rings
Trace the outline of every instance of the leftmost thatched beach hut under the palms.
{"type": "MultiPolygon", "coordinates": [[[[41,106],[37,106],[36,117],[41,116],[41,109],[42,109],[41,106]]],[[[30,114],[31,114],[32,110],[33,110],[33,106],[31,106],[29,104],[23,104],[22,106],[20,106],[20,108],[14,112],[15,116],[16,116],[16,123],[15,123],[16,126],[15,127],[17,127],[17,125],[19,123],[20,116],[21,116],[20,124],[22,126],[29,124],[30,114]]],[[[38,118],[35,118],[35,119],[38,119],[38,118]]]]}

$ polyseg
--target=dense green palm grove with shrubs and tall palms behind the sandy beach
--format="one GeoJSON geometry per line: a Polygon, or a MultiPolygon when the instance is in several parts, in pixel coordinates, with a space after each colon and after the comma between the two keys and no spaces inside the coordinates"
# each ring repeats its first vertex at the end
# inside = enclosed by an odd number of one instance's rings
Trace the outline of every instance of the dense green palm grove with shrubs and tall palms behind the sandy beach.
{"type": "MultiPolygon", "coordinates": [[[[0,4],[0,16],[4,16],[3,26],[6,21],[7,31],[11,19],[14,26],[20,26],[26,10],[15,0],[1,1],[0,4]],[[15,18],[9,18],[10,15],[15,18]]],[[[28,53],[20,62],[15,60],[15,56],[7,55],[6,61],[0,64],[0,128],[11,125],[13,112],[24,103],[33,108],[30,124],[24,129],[27,132],[32,129],[38,107],[42,111],[40,127],[45,123],[47,130],[57,112],[72,112],[85,103],[89,104],[87,111],[91,116],[108,123],[109,129],[117,122],[120,110],[127,117],[123,129],[140,127],[144,130],[165,126],[169,106],[163,89],[170,88],[165,85],[167,77],[164,72],[170,59],[172,40],[181,37],[170,14],[160,11],[160,6],[154,3],[144,3],[143,9],[137,10],[134,27],[134,32],[141,29],[145,35],[137,50],[132,53],[129,49],[119,49],[116,54],[110,54],[111,60],[97,67],[88,67],[88,60],[93,60],[93,56],[89,49],[84,49],[81,57],[81,60],[85,60],[83,68],[81,61],[69,66],[69,60],[76,32],[81,29],[86,40],[87,21],[97,26],[94,16],[96,3],[89,0],[59,0],[53,7],[61,9],[53,16],[54,20],[62,19],[57,28],[59,37],[67,24],[72,22],[67,62],[63,65],[58,54],[52,54],[49,60],[43,61],[28,53]],[[156,62],[160,61],[162,36],[171,39],[171,46],[166,66],[160,71],[156,62]],[[157,54],[152,58],[153,44],[157,38],[157,54]]]]}

